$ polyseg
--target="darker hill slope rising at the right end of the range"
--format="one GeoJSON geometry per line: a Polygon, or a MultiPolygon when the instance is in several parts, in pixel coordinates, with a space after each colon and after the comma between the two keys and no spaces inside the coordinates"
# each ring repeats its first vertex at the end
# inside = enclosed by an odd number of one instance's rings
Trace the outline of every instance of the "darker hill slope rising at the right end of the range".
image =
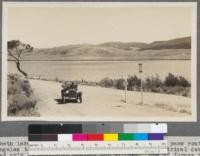
{"type": "Polygon", "coordinates": [[[140,50],[160,50],[160,49],[190,49],[191,37],[176,38],[167,41],[155,41],[141,47],[140,50]]]}

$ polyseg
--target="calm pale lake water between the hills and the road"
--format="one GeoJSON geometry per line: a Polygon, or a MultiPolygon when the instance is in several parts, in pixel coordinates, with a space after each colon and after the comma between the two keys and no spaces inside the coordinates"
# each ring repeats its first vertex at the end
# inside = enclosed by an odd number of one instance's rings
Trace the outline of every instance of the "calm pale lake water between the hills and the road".
{"type": "MultiPolygon", "coordinates": [[[[105,77],[123,78],[138,75],[138,63],[143,64],[143,77],[158,74],[161,79],[170,72],[191,80],[190,60],[153,61],[22,61],[22,69],[30,75],[60,80],[99,81],[105,77]]],[[[18,73],[16,65],[8,61],[8,73],[18,73]]]]}

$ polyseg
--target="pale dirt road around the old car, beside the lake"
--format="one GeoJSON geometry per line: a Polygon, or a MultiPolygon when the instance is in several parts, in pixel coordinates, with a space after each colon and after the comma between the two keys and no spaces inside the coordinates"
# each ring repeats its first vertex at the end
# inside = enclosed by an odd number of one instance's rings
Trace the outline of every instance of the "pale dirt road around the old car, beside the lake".
{"type": "Polygon", "coordinates": [[[83,92],[83,102],[59,104],[61,84],[51,81],[30,80],[38,98],[38,111],[41,117],[67,116],[188,116],[191,99],[182,96],[143,93],[144,104],[139,105],[140,92],[127,92],[127,103],[124,102],[124,91],[79,86],[83,92]]]}

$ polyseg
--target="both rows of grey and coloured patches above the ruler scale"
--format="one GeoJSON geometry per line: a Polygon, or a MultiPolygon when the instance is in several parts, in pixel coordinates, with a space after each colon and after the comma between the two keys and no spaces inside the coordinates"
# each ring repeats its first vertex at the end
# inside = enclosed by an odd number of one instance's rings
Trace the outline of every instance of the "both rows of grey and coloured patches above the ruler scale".
{"type": "Polygon", "coordinates": [[[29,125],[29,141],[163,140],[167,124],[29,125]]]}

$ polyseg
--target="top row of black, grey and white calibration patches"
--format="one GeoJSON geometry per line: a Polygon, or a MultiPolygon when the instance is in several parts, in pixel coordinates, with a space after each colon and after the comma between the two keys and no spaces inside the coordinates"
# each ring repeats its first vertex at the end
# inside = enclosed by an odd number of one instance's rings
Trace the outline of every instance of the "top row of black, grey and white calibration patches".
{"type": "Polygon", "coordinates": [[[96,124],[32,124],[29,134],[74,134],[74,133],[167,133],[165,123],[96,123],[96,124]]]}

